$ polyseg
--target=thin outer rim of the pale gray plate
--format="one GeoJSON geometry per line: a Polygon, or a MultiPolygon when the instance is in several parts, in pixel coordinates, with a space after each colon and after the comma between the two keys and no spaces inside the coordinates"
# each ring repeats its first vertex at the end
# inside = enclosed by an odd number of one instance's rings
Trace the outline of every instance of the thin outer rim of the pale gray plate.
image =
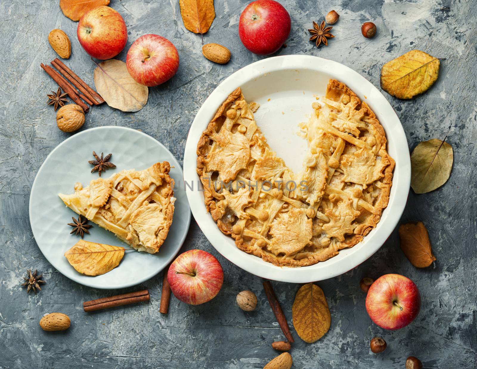
{"type": "MultiPolygon", "coordinates": [[[[161,142],[159,142],[158,140],[156,140],[156,138],[152,137],[152,136],[149,136],[148,134],[144,133],[144,132],[141,132],[141,131],[138,131],[137,129],[133,129],[133,128],[129,128],[129,127],[121,127],[121,126],[102,126],[102,127],[93,127],[93,128],[88,128],[88,129],[85,129],[84,131],[81,131],[81,132],[78,132],[76,134],[74,134],[73,136],[70,136],[68,138],[66,138],[64,141],[60,142],[55,148],[53,148],[53,150],[47,155],[47,157],[45,158],[45,160],[43,161],[43,163],[41,164],[40,168],[38,169],[38,172],[36,173],[35,175],[35,179],[33,180],[33,183],[31,185],[31,190],[30,190],[30,195],[31,195],[31,191],[33,190],[33,188],[35,187],[35,184],[37,182],[37,178],[38,178],[38,174],[40,173],[41,169],[43,169],[43,166],[45,165],[45,163],[47,162],[47,160],[49,158],[52,157],[52,155],[54,154],[54,152],[62,145],[66,144],[69,140],[75,138],[75,137],[78,137],[80,135],[83,135],[85,134],[86,132],[91,132],[91,131],[95,131],[95,130],[101,130],[101,129],[105,129],[105,128],[114,128],[114,129],[124,129],[124,130],[127,130],[127,131],[132,131],[134,133],[137,133],[137,134],[140,134],[140,135],[144,135],[145,137],[148,137],[148,138],[151,138],[153,139],[154,141],[156,141],[157,144],[159,144],[159,146],[161,146],[163,149],[165,149],[170,155],[172,158],[174,158],[174,160],[176,160],[176,163],[174,164],[177,164],[177,165],[174,165],[175,168],[177,168],[180,173],[182,174],[182,178],[184,178],[184,171],[179,163],[179,161],[176,159],[176,157],[169,151],[168,148],[166,148],[161,142]]],[[[29,203],[28,203],[28,211],[29,211],[29,220],[30,220],[30,228],[31,228],[31,232],[33,233],[33,238],[35,240],[35,243],[37,244],[38,248],[40,249],[41,253],[43,254],[43,256],[45,257],[46,260],[48,260],[48,262],[50,264],[52,264],[52,266],[58,271],[60,272],[63,276],[71,279],[72,281],[80,284],[80,285],[84,285],[84,286],[87,286],[87,287],[91,287],[91,288],[97,288],[97,289],[120,289],[120,288],[127,288],[127,287],[131,287],[131,286],[135,286],[135,285],[139,285],[151,278],[153,278],[154,276],[156,276],[157,274],[159,274],[160,272],[162,272],[166,266],[176,257],[177,253],[179,253],[179,250],[181,249],[182,245],[184,244],[185,240],[186,240],[186,237],[187,237],[187,233],[188,233],[188,230],[189,230],[189,227],[190,227],[190,221],[191,221],[191,211],[190,211],[190,206],[188,206],[189,208],[189,211],[187,211],[187,221],[186,221],[186,224],[187,224],[187,227],[185,227],[185,232],[183,233],[183,235],[181,236],[180,238],[180,242],[178,243],[178,247],[176,248],[176,251],[167,259],[167,262],[165,264],[165,266],[163,268],[160,268],[158,270],[155,270],[153,271],[152,274],[148,274],[142,278],[140,278],[139,280],[137,281],[134,281],[133,283],[126,283],[124,285],[117,285],[117,286],[114,286],[114,287],[109,287],[109,286],[98,286],[98,285],[95,285],[95,284],[91,284],[91,283],[85,283],[77,278],[74,278],[74,277],[70,277],[68,275],[65,275],[61,272],[60,269],[57,268],[57,266],[55,264],[52,263],[52,261],[48,258],[48,256],[45,255],[45,253],[43,253],[43,251],[41,250],[41,247],[40,245],[38,244],[37,242],[37,239],[36,239],[36,236],[35,236],[35,232],[33,230],[33,228],[31,227],[31,217],[32,217],[32,210],[31,210],[31,207],[32,207],[32,200],[31,200],[31,196],[30,196],[30,199],[29,199],[29,203]]],[[[174,221],[174,218],[173,218],[173,221],[174,221]]],[[[78,274],[78,276],[81,276],[83,274],[78,274]]]]}

